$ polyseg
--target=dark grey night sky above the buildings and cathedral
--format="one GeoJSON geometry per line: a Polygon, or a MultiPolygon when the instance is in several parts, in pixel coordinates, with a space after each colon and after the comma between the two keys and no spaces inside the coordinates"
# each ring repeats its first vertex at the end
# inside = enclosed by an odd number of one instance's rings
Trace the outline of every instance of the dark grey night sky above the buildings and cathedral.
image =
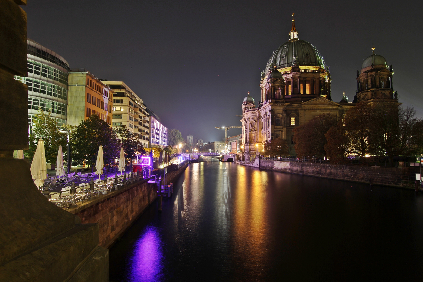
{"type": "Polygon", "coordinates": [[[399,101],[423,116],[421,1],[28,0],[22,8],[28,38],[71,68],[124,81],[184,138],[220,141],[215,126],[241,125],[235,115],[247,91],[260,99],[260,71],[288,41],[293,12],[299,39],[330,66],[335,102],[343,91],[352,101],[374,45],[393,65],[399,101]]]}

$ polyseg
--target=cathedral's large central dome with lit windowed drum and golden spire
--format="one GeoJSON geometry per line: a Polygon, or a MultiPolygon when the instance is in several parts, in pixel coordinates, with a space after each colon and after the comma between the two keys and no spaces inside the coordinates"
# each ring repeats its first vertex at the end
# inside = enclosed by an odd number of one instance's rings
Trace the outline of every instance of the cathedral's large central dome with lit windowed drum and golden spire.
{"type": "Polygon", "coordinates": [[[299,40],[292,14],[288,42],[273,52],[262,72],[261,104],[304,102],[317,97],[331,100],[330,81],[329,67],[316,47],[299,40]]]}

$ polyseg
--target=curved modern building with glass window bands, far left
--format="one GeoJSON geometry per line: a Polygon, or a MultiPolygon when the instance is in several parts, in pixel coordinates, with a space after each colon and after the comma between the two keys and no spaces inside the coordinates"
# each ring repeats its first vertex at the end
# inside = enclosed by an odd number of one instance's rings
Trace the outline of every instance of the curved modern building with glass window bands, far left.
{"type": "Polygon", "coordinates": [[[35,41],[27,39],[28,77],[15,76],[28,86],[29,132],[38,109],[52,113],[58,127],[66,123],[69,64],[35,41]]]}

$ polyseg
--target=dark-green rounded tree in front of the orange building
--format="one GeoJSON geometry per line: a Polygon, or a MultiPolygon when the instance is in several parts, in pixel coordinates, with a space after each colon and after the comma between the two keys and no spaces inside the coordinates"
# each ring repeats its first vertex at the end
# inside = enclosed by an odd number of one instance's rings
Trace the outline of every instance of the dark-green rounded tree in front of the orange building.
{"type": "Polygon", "coordinates": [[[83,120],[71,134],[72,160],[76,164],[94,166],[100,145],[103,146],[104,164],[119,157],[121,142],[113,129],[97,115],[83,120]]]}

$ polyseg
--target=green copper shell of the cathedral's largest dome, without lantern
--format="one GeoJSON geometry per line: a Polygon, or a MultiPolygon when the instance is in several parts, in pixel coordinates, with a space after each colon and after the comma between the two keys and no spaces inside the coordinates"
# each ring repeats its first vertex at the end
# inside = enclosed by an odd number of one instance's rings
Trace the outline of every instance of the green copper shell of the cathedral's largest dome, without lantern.
{"type": "Polygon", "coordinates": [[[280,45],[267,62],[266,69],[276,65],[276,68],[286,68],[292,66],[294,57],[299,66],[320,66],[325,68],[323,57],[316,47],[304,40],[297,38],[280,45]]]}

